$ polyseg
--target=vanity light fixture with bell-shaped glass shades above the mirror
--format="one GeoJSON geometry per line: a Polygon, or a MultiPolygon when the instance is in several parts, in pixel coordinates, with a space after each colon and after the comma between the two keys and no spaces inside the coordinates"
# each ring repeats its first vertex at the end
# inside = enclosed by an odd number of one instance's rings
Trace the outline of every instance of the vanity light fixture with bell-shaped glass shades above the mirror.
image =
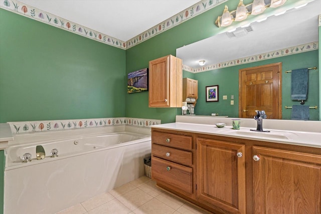
{"type": "Polygon", "coordinates": [[[261,14],[265,9],[277,8],[284,5],[285,2],[286,0],[254,0],[253,3],[244,5],[243,0],[239,0],[239,4],[234,11],[229,12],[228,7],[225,6],[222,16],[217,17],[215,25],[217,27],[226,27],[231,25],[233,21],[243,21],[249,15],[261,14]]]}

